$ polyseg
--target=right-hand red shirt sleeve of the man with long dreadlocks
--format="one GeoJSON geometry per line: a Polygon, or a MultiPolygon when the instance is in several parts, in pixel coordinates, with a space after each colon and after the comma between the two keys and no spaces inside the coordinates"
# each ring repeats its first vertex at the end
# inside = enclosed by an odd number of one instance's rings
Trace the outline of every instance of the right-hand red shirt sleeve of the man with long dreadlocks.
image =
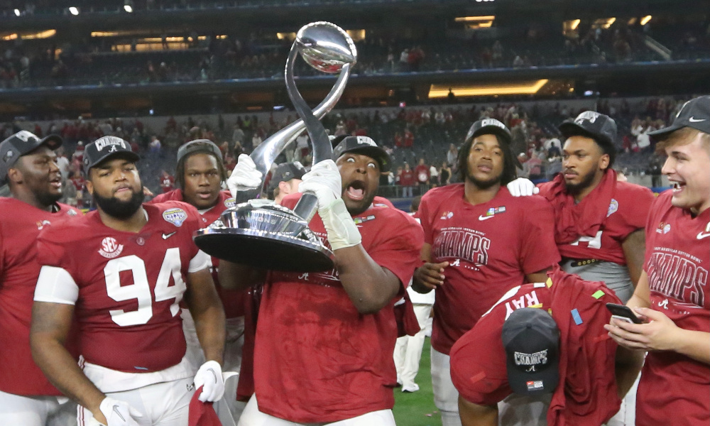
{"type": "Polygon", "coordinates": [[[520,249],[520,265],[525,274],[541,271],[560,261],[555,244],[555,214],[552,206],[542,197],[525,204],[522,220],[524,230],[520,249]]]}

